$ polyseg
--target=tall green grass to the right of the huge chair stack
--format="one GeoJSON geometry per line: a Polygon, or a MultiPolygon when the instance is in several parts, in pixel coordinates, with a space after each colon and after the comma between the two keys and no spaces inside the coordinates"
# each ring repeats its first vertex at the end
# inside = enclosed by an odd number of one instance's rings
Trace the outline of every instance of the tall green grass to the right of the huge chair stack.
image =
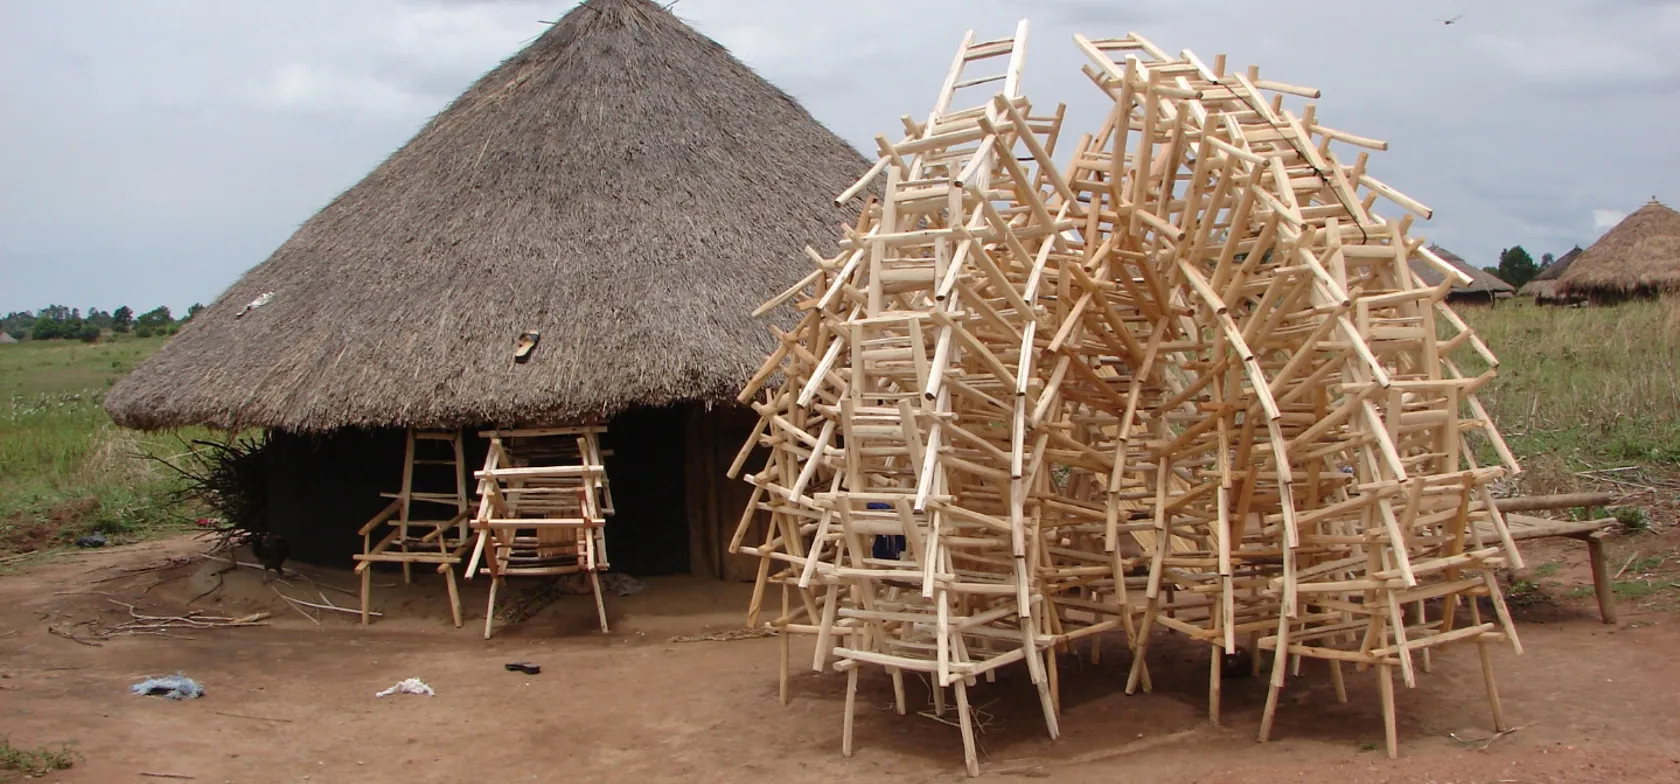
{"type": "Polygon", "coordinates": [[[1534,473],[1530,492],[1569,489],[1584,468],[1680,468],[1680,299],[1458,312],[1499,356],[1478,396],[1534,473]]]}

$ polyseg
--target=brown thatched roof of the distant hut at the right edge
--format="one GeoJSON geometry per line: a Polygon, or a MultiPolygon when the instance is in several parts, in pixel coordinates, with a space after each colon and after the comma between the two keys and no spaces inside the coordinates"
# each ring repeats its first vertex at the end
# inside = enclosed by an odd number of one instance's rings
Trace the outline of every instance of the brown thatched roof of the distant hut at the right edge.
{"type": "Polygon", "coordinates": [[[1557,282],[1567,294],[1599,297],[1680,290],[1680,213],[1651,198],[1583,250],[1557,282]]]}

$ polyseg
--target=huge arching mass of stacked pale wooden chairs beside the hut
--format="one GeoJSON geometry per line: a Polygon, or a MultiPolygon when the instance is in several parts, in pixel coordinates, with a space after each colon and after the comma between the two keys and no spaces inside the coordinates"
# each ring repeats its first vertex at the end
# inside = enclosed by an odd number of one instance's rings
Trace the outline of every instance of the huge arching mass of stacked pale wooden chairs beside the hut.
{"type": "Polygon", "coordinates": [[[900,713],[902,673],[927,673],[976,774],[976,678],[1025,665],[1055,737],[1057,650],[1124,631],[1147,688],[1168,630],[1210,646],[1215,720],[1220,653],[1273,651],[1262,740],[1324,661],[1344,698],[1344,666],[1376,672],[1393,755],[1393,675],[1460,643],[1504,729],[1488,650],[1520,643],[1494,572],[1520,556],[1490,483],[1519,468],[1475,400],[1497,361],[1445,306],[1463,275],[1410,235],[1430,210],[1341,158],[1386,144],[1223,55],[1075,37],[1110,111],[1062,166],[1063,111],[1020,94],[1025,39],[964,39],[934,111],[840,195],[879,191],[840,253],[759,309],[803,312],[741,393],[759,428],[731,467],[783,698],[788,633],[810,633],[813,666],[847,673],[850,754],[858,668],[900,713]]]}

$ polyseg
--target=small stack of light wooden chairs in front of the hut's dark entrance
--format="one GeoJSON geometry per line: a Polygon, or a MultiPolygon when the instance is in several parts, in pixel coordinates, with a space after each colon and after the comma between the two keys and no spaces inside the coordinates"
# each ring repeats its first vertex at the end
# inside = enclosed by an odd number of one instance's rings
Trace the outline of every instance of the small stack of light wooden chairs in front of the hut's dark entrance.
{"type": "Polygon", "coordinates": [[[608,631],[600,572],[608,569],[606,517],[613,514],[600,436],[605,426],[491,430],[479,480],[474,574],[491,578],[484,638],[507,578],[586,574],[601,631],[608,631]]]}

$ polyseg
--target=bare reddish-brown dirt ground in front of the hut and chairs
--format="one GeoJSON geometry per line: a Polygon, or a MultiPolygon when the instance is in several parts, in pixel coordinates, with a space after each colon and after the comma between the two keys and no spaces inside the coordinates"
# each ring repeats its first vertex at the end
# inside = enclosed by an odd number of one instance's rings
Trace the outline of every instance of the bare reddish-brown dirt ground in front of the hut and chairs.
{"type": "MultiPolygon", "coordinates": [[[[1675,534],[1618,542],[1613,569],[1630,552],[1675,552],[1675,534]]],[[[368,628],[336,613],[319,625],[306,619],[252,569],[223,576],[220,589],[188,606],[217,584],[222,567],[188,557],[202,547],[185,537],[114,547],[0,578],[0,734],[13,745],[74,740],[84,755],[50,781],[963,781],[958,730],[895,715],[879,670],[864,675],[857,754],[843,759],[845,678],[808,670],[808,640],[793,643],[786,707],[776,700],[778,640],[670,641],[739,628],[749,586],[648,581],[640,594],[608,598],[612,635],[593,628],[588,598],[566,596],[486,641],[484,584],[467,584],[469,619],[455,630],[433,574],[380,588],[375,606],[386,618],[368,628]],[[101,626],[82,621],[109,628],[129,619],[113,598],[146,614],[198,608],[272,618],[270,626],[178,633],[192,640],[118,636],[97,646],[49,633],[89,638],[101,626]],[[502,666],[526,660],[543,673],[502,666]],[[128,693],[144,677],[176,672],[203,683],[205,697],[128,693]],[[437,697],[375,698],[408,677],[430,683],[437,697]]],[[[1651,593],[1623,601],[1620,625],[1601,625],[1589,598],[1569,596],[1586,579],[1576,549],[1524,549],[1530,564],[1559,562],[1536,578],[1557,586],[1519,608],[1527,651],[1497,656],[1505,715],[1519,730],[1487,749],[1473,742],[1492,735],[1473,650],[1436,655],[1418,688],[1399,690],[1401,759],[1388,760],[1378,750],[1383,722],[1371,675],[1351,677],[1351,702],[1339,705],[1327,675],[1309,666],[1290,680],[1273,742],[1262,745],[1253,734],[1263,680],[1228,680],[1225,722],[1215,727],[1205,713],[1205,650],[1161,638],[1151,658],[1154,692],[1126,697],[1129,656],[1110,640],[1100,665],[1062,658],[1060,740],[1045,737],[1025,672],[978,688],[988,717],[983,776],[1163,784],[1680,781],[1672,677],[1680,614],[1651,593]]],[[[1653,566],[1651,579],[1680,579],[1665,571],[1673,567],[1653,566]]],[[[353,586],[344,572],[302,571],[353,586]]],[[[354,604],[299,576],[287,583],[277,588],[354,604]]],[[[912,705],[926,700],[926,688],[912,685],[912,705]]]]}

